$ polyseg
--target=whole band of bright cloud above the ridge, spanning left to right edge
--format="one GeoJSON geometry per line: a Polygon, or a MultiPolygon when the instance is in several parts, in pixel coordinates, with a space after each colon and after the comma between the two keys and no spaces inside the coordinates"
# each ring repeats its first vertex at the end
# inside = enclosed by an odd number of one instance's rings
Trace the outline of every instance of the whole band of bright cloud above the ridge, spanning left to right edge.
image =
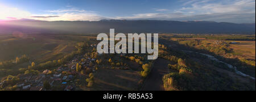
{"type": "Polygon", "coordinates": [[[216,22],[255,23],[255,0],[180,0],[181,8],[168,10],[153,8],[158,13],[141,13],[131,16],[102,16],[95,11],[87,11],[72,6],[65,9],[47,10],[35,15],[15,7],[0,4],[0,19],[35,19],[35,20],[101,20],[101,19],[151,19],[151,20],[209,20],[216,22]],[[72,8],[71,8],[72,7],[72,8]]]}

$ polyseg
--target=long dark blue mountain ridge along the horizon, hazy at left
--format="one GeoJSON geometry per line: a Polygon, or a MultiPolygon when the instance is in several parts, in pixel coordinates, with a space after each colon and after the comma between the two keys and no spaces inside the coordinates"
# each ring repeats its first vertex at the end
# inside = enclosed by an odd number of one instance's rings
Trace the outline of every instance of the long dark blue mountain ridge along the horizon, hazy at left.
{"type": "Polygon", "coordinates": [[[100,20],[100,21],[55,21],[15,20],[0,22],[0,33],[64,32],[64,33],[237,33],[255,34],[255,23],[236,24],[208,21],[171,20],[100,20]]]}

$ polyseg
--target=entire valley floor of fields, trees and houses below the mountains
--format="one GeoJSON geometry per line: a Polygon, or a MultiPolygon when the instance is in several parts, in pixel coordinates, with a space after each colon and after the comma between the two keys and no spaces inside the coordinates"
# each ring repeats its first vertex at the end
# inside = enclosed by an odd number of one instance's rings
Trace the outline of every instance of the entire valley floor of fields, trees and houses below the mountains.
{"type": "Polygon", "coordinates": [[[94,35],[1,35],[0,90],[255,90],[251,40],[161,34],[158,59],[147,60],[148,54],[98,54],[94,35]]]}

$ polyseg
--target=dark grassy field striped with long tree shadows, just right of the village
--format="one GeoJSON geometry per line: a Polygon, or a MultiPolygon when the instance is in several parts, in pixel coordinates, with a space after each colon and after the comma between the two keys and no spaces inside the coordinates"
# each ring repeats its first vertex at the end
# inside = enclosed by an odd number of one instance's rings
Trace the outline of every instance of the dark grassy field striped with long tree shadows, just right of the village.
{"type": "Polygon", "coordinates": [[[119,69],[100,69],[95,74],[92,90],[137,90],[141,75],[138,71],[119,69]]]}

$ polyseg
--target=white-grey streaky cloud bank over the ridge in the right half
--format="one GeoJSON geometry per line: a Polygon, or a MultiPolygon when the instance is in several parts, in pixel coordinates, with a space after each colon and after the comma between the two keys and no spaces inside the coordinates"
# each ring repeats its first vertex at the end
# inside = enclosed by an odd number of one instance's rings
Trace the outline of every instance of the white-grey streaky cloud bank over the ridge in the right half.
{"type": "MultiPolygon", "coordinates": [[[[187,0],[182,0],[185,2],[187,0]]],[[[216,22],[255,23],[255,0],[212,2],[192,0],[183,3],[190,5],[171,13],[134,14],[117,16],[115,19],[157,19],[157,20],[208,20],[216,22]]],[[[155,9],[157,10],[157,9],[155,9]]]]}

